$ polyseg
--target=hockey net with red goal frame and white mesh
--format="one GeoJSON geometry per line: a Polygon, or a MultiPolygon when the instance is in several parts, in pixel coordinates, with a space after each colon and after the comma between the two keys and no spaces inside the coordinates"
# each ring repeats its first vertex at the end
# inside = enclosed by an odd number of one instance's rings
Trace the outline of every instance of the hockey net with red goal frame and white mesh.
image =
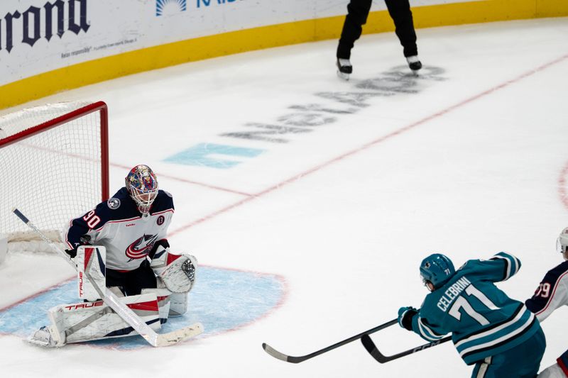
{"type": "MultiPolygon", "coordinates": [[[[66,102],[0,116],[0,234],[9,250],[50,252],[13,213],[48,238],[109,197],[108,111],[104,102],[66,102]]],[[[62,245],[61,245],[62,246],[62,245]]]]}

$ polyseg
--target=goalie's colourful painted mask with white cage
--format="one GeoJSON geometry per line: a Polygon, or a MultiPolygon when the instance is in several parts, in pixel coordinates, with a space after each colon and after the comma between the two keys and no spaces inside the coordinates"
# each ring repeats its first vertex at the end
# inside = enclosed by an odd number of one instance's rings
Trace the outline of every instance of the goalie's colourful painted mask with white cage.
{"type": "Polygon", "coordinates": [[[136,165],[126,175],[126,190],[136,202],[138,211],[147,214],[158,195],[158,179],[148,165],[136,165]]]}

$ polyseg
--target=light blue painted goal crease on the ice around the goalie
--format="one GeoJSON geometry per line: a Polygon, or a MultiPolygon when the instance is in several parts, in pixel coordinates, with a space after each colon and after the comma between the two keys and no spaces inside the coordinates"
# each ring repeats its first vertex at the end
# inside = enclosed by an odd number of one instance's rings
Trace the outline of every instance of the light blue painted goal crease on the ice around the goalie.
{"type": "MultiPolygon", "coordinates": [[[[170,318],[160,333],[201,322],[204,332],[198,337],[239,328],[265,316],[281,304],[285,284],[281,277],[214,267],[200,267],[195,287],[189,295],[184,316],[170,318]]],[[[31,299],[0,311],[0,334],[26,338],[34,330],[48,325],[46,311],[60,304],[81,302],[77,299],[75,280],[60,284],[31,299]]],[[[86,345],[117,350],[151,348],[140,336],[96,340],[86,345]]]]}

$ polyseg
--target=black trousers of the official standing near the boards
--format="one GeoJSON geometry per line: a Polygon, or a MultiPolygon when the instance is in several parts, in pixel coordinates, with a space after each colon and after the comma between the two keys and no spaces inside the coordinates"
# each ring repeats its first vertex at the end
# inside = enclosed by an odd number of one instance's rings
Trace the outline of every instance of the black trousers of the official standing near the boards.
{"type": "MultiPolygon", "coordinates": [[[[416,47],[416,32],[414,30],[413,13],[410,11],[408,0],[385,0],[388,14],[395,23],[395,33],[403,45],[405,57],[418,55],[416,47]]],[[[372,0],[351,0],[347,5],[347,16],[343,24],[342,36],[339,38],[337,57],[349,59],[351,49],[356,40],[361,37],[362,26],[367,22],[372,0]]]]}

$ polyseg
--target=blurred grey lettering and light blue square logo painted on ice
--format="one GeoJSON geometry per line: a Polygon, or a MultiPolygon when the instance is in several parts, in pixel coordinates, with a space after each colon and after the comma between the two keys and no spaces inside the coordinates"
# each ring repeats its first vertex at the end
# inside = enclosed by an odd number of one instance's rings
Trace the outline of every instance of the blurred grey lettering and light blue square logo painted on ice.
{"type": "MultiPolygon", "coordinates": [[[[222,133],[219,136],[238,140],[254,140],[265,143],[288,143],[291,136],[312,133],[339,118],[350,116],[368,106],[369,100],[375,97],[402,96],[419,93],[430,82],[446,80],[444,69],[426,66],[420,75],[403,73],[406,66],[393,67],[383,72],[380,77],[362,80],[355,83],[355,89],[346,91],[323,91],[314,94],[320,102],[312,104],[293,104],[290,111],[277,116],[275,121],[247,122],[245,130],[222,133]]],[[[354,82],[354,81],[352,81],[354,82]]],[[[380,106],[381,104],[375,104],[380,106]]],[[[256,157],[264,152],[261,148],[245,146],[220,145],[215,143],[199,143],[186,150],[167,157],[165,162],[182,165],[197,165],[217,169],[227,169],[241,164],[242,161],[219,159],[219,155],[232,157],[256,157]]]]}

